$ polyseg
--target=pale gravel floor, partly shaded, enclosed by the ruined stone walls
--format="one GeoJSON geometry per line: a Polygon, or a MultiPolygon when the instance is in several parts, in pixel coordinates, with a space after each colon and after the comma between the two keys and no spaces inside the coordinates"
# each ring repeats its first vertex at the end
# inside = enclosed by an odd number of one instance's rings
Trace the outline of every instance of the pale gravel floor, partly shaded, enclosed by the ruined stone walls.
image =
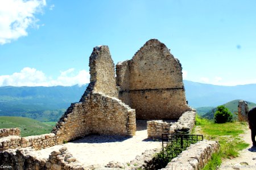
{"type": "Polygon", "coordinates": [[[40,151],[34,151],[38,158],[46,159],[53,150],[66,146],[68,151],[85,165],[104,167],[111,161],[126,163],[141,155],[145,150],[160,148],[159,141],[147,138],[146,121],[137,122],[136,135],[132,138],[89,135],[74,142],[57,145],[40,151]]]}

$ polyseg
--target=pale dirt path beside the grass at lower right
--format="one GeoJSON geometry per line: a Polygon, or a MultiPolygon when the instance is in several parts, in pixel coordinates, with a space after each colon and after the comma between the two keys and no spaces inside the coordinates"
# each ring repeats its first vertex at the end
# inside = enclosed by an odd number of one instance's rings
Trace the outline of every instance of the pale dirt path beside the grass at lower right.
{"type": "Polygon", "coordinates": [[[243,141],[249,143],[249,147],[240,151],[240,156],[234,159],[225,159],[218,169],[256,169],[256,147],[251,144],[251,131],[247,129],[242,135],[243,141]]]}

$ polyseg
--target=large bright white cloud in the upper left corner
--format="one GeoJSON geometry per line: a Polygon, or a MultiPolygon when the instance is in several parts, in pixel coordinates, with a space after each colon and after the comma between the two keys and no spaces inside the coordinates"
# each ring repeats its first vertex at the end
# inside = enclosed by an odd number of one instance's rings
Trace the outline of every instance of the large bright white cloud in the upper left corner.
{"type": "Polygon", "coordinates": [[[42,12],[46,0],[1,0],[0,1],[0,44],[27,36],[28,27],[36,27],[37,12],[42,12]]]}

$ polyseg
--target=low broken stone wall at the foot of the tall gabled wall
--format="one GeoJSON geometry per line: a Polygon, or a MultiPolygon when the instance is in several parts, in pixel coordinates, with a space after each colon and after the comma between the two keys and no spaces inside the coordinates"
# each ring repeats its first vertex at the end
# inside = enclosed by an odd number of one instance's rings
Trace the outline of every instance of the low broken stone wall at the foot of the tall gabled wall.
{"type": "Polygon", "coordinates": [[[184,112],[174,123],[163,122],[162,120],[147,121],[147,135],[150,138],[161,138],[162,133],[188,134],[195,125],[196,112],[184,112]]]}

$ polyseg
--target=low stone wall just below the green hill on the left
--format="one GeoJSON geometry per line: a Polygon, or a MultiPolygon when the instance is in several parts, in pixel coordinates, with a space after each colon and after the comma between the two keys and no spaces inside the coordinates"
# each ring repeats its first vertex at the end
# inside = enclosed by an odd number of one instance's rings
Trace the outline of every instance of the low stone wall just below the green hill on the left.
{"type": "Polygon", "coordinates": [[[32,147],[35,150],[55,146],[60,144],[59,137],[55,134],[42,134],[29,137],[9,136],[0,138],[0,151],[8,149],[19,149],[24,147],[32,147]]]}

